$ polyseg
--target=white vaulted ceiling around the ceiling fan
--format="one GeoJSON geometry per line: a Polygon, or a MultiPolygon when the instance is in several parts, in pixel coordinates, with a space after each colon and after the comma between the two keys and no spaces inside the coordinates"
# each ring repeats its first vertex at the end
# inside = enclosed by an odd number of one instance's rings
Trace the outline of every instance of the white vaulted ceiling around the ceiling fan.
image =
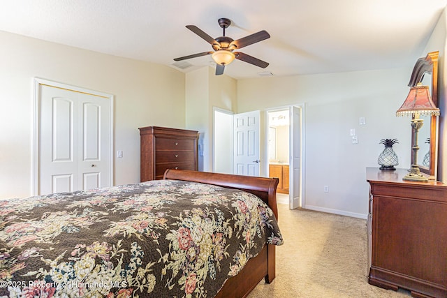
{"type": "MultiPolygon", "coordinates": [[[[185,28],[213,38],[217,20],[226,36],[266,30],[271,38],[244,47],[270,65],[235,60],[235,79],[334,73],[413,65],[421,56],[447,0],[0,0],[0,30],[189,72],[215,67],[210,55],[175,63],[176,57],[212,51],[185,28]]],[[[2,45],[3,46],[3,45],[2,45]]]]}

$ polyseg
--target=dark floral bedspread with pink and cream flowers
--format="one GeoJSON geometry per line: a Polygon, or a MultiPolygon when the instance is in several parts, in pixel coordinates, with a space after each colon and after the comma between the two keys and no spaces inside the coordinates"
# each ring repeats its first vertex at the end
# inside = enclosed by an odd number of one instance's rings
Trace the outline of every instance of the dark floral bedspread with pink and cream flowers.
{"type": "Polygon", "coordinates": [[[214,297],[282,241],[262,200],[207,184],[0,200],[0,297],[214,297]]]}

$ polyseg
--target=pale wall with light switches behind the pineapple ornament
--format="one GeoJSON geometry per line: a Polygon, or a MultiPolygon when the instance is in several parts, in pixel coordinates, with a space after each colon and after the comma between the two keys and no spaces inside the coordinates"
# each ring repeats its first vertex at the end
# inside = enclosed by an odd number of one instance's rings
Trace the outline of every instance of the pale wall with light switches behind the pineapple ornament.
{"type": "Polygon", "coordinates": [[[409,120],[395,111],[408,94],[412,68],[239,80],[237,112],[305,103],[305,206],[365,217],[365,167],[379,166],[379,141],[397,138],[400,167],[410,165],[409,120]],[[351,143],[351,128],[358,144],[351,143]]]}

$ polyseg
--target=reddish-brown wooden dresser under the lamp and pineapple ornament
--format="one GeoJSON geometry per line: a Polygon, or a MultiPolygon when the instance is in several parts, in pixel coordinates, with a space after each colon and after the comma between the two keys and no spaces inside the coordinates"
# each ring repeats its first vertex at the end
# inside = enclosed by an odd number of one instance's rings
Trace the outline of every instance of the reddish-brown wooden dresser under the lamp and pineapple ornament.
{"type": "Polygon", "coordinates": [[[367,168],[368,282],[447,297],[447,185],[403,181],[407,173],[367,168]]]}

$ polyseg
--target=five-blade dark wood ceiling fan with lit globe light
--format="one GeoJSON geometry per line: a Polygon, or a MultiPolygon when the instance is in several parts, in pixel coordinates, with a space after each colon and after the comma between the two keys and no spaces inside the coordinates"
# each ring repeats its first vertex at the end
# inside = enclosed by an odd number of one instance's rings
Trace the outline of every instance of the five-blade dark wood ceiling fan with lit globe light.
{"type": "Polygon", "coordinates": [[[217,38],[212,38],[207,33],[194,25],[186,26],[186,28],[196,33],[198,36],[207,41],[207,43],[210,43],[214,52],[201,52],[198,54],[175,58],[174,60],[181,61],[211,54],[212,59],[216,61],[216,75],[223,74],[225,66],[233,62],[234,59],[239,59],[240,61],[244,61],[261,68],[266,68],[268,66],[267,62],[252,57],[248,54],[244,54],[242,52],[233,52],[234,50],[242,49],[242,47],[247,47],[247,45],[252,45],[254,43],[258,43],[261,40],[270,38],[270,34],[267,31],[259,31],[249,36],[233,40],[233,38],[225,36],[225,29],[230,26],[231,21],[223,17],[217,20],[217,22],[219,22],[219,26],[223,29],[223,36],[219,36],[217,38]]]}

